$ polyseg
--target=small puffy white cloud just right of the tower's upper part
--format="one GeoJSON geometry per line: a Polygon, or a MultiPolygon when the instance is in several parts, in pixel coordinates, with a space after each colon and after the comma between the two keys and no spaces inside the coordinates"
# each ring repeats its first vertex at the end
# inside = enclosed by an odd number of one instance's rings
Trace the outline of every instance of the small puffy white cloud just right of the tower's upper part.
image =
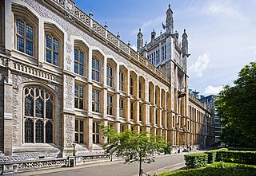
{"type": "Polygon", "coordinates": [[[202,77],[202,72],[210,67],[210,54],[204,53],[190,66],[189,72],[195,76],[202,77]]]}

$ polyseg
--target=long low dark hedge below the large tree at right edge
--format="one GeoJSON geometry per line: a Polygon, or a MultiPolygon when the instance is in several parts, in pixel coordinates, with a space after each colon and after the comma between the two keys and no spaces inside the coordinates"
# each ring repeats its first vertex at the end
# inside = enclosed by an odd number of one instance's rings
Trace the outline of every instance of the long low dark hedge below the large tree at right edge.
{"type": "Polygon", "coordinates": [[[256,164],[256,151],[218,151],[216,161],[256,164]]]}

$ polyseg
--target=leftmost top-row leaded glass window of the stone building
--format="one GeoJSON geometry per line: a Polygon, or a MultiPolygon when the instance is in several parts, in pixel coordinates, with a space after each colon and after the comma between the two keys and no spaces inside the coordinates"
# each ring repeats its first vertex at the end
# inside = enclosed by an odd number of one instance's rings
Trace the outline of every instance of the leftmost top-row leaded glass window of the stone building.
{"type": "Polygon", "coordinates": [[[34,56],[34,27],[21,18],[16,19],[17,49],[34,56]]]}

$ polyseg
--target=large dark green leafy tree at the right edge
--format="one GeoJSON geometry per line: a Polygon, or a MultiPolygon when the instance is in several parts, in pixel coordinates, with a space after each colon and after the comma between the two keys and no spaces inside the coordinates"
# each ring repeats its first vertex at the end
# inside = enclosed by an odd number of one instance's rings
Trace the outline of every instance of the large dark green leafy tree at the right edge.
{"type": "Polygon", "coordinates": [[[222,140],[234,145],[256,145],[256,62],[246,65],[215,101],[222,121],[222,140]]]}

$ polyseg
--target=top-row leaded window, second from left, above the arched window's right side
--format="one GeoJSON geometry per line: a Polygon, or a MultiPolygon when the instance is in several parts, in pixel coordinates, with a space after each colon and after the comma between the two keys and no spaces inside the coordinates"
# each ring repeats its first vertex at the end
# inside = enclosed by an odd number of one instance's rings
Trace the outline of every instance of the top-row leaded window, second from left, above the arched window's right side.
{"type": "Polygon", "coordinates": [[[59,41],[51,34],[46,34],[46,62],[58,66],[59,41]]]}

